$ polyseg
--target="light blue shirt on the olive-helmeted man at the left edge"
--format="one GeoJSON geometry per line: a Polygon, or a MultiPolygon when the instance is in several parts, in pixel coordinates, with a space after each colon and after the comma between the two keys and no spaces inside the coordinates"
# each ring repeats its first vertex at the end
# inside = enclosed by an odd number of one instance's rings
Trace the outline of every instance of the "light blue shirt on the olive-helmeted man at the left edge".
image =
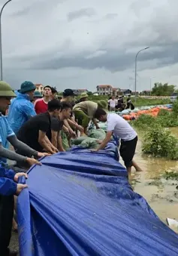
{"type": "MultiPolygon", "coordinates": [[[[8,148],[8,137],[14,136],[14,131],[12,131],[6,116],[0,113],[0,143],[2,147],[8,148]]],[[[7,164],[7,159],[0,156],[0,165],[5,166],[7,164]]]]}

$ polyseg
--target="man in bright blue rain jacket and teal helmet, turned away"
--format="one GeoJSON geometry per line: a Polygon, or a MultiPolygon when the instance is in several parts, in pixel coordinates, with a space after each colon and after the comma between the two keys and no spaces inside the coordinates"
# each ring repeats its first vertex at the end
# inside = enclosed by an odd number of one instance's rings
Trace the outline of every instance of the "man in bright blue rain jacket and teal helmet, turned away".
{"type": "Polygon", "coordinates": [[[15,134],[20,127],[32,116],[35,116],[35,108],[31,100],[34,97],[35,85],[25,81],[18,91],[17,97],[11,101],[8,112],[8,123],[15,134]]]}

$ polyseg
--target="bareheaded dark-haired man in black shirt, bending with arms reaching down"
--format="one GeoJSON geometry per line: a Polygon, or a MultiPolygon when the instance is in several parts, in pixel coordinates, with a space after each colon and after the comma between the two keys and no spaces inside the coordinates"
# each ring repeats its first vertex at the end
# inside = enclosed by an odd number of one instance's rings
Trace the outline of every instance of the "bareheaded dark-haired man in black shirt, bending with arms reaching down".
{"type": "Polygon", "coordinates": [[[33,116],[20,128],[17,134],[18,139],[37,151],[45,150],[52,154],[58,152],[51,143],[51,126],[53,125],[51,119],[59,116],[60,109],[59,100],[50,100],[46,113],[33,116]]]}

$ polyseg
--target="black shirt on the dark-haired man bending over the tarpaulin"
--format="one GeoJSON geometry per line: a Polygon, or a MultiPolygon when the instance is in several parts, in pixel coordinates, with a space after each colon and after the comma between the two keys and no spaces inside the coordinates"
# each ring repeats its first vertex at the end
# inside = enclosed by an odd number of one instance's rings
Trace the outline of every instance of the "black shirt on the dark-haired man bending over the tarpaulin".
{"type": "Polygon", "coordinates": [[[47,133],[47,137],[51,140],[51,118],[48,112],[41,113],[29,119],[19,130],[17,138],[26,143],[32,149],[41,152],[43,148],[38,143],[39,131],[47,133]]]}

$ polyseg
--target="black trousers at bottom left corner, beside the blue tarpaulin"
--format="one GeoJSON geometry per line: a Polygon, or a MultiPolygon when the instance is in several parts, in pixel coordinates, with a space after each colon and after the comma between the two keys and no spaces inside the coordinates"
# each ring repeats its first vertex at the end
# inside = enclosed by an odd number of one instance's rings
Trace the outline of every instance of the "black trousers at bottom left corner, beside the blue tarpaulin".
{"type": "Polygon", "coordinates": [[[11,240],[14,195],[0,195],[0,255],[6,255],[11,240]]]}

